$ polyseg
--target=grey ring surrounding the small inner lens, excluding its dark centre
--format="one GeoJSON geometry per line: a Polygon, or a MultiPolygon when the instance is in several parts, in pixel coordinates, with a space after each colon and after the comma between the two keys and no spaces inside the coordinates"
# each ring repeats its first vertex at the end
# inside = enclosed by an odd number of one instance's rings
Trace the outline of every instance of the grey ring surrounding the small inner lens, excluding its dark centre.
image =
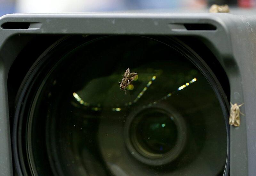
{"type": "Polygon", "coordinates": [[[134,110],[127,118],[125,124],[124,124],[124,139],[125,139],[125,144],[130,153],[132,154],[133,157],[135,157],[137,160],[144,164],[152,165],[152,166],[159,166],[159,165],[164,165],[167,163],[172,162],[175,160],[180,153],[183,151],[186,141],[187,141],[187,126],[185,123],[184,118],[176,112],[172,107],[166,106],[164,104],[157,104],[153,105],[148,108],[143,108],[143,109],[137,109],[134,110]],[[170,149],[167,153],[165,154],[149,154],[143,152],[139,146],[136,144],[134,145],[133,138],[131,138],[131,126],[132,123],[134,123],[134,119],[136,119],[137,115],[140,114],[143,111],[148,111],[151,109],[159,109],[164,112],[166,112],[168,115],[173,116],[173,121],[176,124],[177,127],[177,143],[176,145],[170,149]]]}

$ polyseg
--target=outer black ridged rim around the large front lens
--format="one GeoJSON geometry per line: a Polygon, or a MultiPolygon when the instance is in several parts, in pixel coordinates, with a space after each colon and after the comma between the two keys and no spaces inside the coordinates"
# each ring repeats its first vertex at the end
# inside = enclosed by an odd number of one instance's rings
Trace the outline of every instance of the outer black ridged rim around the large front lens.
{"type": "MultiPolygon", "coordinates": [[[[136,35],[134,35],[136,36],[136,35]]],[[[94,39],[97,40],[98,38],[102,38],[99,36],[93,36],[94,39]]],[[[92,38],[93,38],[92,37],[92,38]]],[[[103,36],[108,37],[108,36],[103,36]]],[[[226,125],[226,132],[227,132],[227,159],[226,159],[226,165],[224,170],[224,175],[228,175],[229,172],[229,155],[230,155],[230,138],[229,138],[229,131],[230,127],[228,125],[228,107],[229,103],[227,100],[227,97],[225,96],[225,92],[223,91],[221,84],[219,83],[217,77],[214,75],[212,70],[208,67],[208,65],[204,62],[204,60],[196,53],[194,52],[188,45],[181,42],[176,37],[170,37],[170,36],[140,36],[140,37],[147,37],[153,40],[157,40],[161,43],[167,44],[168,46],[176,49],[179,51],[182,55],[187,57],[196,67],[203,73],[203,75],[206,77],[210,85],[212,86],[212,89],[215,92],[215,95],[217,96],[217,99],[219,100],[225,125],[226,125]],[[193,59],[190,57],[193,56],[193,59]]],[[[35,81],[39,75],[42,74],[42,70],[46,66],[48,68],[52,68],[54,64],[49,64],[49,52],[56,52],[55,47],[58,47],[59,45],[63,45],[66,42],[72,42],[74,40],[77,40],[77,35],[72,36],[64,36],[54,44],[52,44],[33,64],[33,66],[28,71],[27,75],[25,76],[20,89],[17,93],[17,101],[16,101],[16,108],[14,110],[14,120],[13,120],[13,133],[12,133],[12,145],[13,145],[13,156],[14,156],[14,163],[16,166],[16,171],[18,174],[22,175],[28,175],[29,168],[27,168],[25,165],[26,157],[27,157],[27,149],[24,148],[24,141],[22,141],[22,135],[24,131],[24,126],[26,126],[26,123],[24,124],[23,116],[25,115],[24,112],[29,111],[31,108],[31,102],[29,102],[29,99],[31,99],[30,93],[33,91],[36,91],[38,85],[35,85],[35,81]],[[75,39],[74,39],[75,38],[75,39]],[[48,57],[47,57],[48,56],[48,57]],[[49,67],[50,65],[50,67],[49,67]]],[[[84,42],[84,40],[78,39],[79,42],[84,42]]],[[[78,46],[80,43],[77,42],[78,46]]],[[[63,50],[62,50],[63,51],[63,50]]],[[[66,51],[63,51],[66,52],[66,51]]],[[[51,58],[52,59],[52,58],[51,58]]],[[[56,58],[58,60],[58,58],[56,58]]],[[[55,61],[56,61],[55,60],[55,61]]],[[[217,61],[217,60],[216,60],[217,61]]],[[[37,80],[38,81],[38,80],[37,80]]],[[[26,134],[26,133],[25,133],[26,134]]],[[[27,145],[27,137],[25,145],[27,145]]],[[[29,166],[31,167],[31,166],[29,166]]],[[[30,168],[31,169],[31,168],[30,168]]],[[[31,170],[30,170],[31,172],[31,170]]]]}

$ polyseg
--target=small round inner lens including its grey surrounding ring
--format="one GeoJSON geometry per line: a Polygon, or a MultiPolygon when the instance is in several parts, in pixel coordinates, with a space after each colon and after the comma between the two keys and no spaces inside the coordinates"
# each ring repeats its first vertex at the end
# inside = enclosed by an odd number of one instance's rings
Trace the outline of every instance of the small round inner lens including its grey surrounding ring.
{"type": "Polygon", "coordinates": [[[187,140],[184,118],[164,104],[138,109],[125,124],[126,147],[140,162],[168,164],[183,151],[187,140]]]}

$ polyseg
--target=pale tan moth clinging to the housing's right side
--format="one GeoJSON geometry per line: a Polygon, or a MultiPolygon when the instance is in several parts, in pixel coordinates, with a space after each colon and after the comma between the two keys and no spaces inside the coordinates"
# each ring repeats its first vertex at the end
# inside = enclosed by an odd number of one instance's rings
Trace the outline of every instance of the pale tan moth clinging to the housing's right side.
{"type": "Polygon", "coordinates": [[[244,105],[237,105],[230,103],[231,108],[230,108],[230,116],[229,116],[229,124],[230,125],[234,125],[234,126],[240,126],[240,114],[244,115],[243,113],[241,113],[240,111],[240,107],[244,105]]]}

